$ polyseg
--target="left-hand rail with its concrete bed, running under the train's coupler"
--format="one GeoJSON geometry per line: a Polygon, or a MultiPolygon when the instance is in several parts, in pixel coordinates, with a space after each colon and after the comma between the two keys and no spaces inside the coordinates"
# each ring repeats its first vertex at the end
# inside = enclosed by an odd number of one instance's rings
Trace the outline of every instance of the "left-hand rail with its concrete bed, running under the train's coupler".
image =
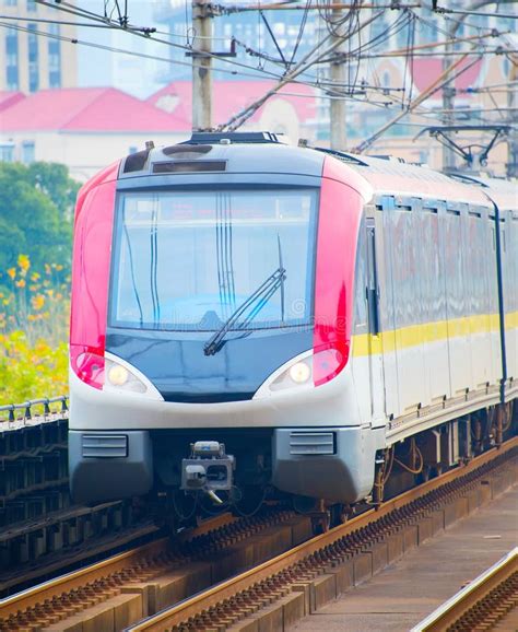
{"type": "Polygon", "coordinates": [[[291,548],[310,531],[309,518],[280,507],[250,518],[224,514],[178,541],[163,537],[4,599],[0,631],[72,630],[84,620],[97,630],[110,618],[117,621],[111,629],[120,630],[150,609],[291,548]]]}

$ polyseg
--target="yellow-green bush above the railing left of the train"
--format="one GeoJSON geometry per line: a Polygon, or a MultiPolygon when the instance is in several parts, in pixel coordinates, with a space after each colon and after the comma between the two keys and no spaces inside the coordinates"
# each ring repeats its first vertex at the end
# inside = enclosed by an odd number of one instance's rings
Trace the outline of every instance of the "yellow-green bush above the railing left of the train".
{"type": "Polygon", "coordinates": [[[67,343],[31,344],[23,331],[0,333],[0,402],[20,403],[27,399],[66,395],[67,343]]]}

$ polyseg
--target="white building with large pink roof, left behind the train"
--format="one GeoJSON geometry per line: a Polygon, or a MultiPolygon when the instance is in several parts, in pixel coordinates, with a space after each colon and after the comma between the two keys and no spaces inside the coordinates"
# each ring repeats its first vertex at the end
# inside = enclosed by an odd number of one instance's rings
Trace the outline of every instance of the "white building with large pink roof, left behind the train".
{"type": "Polygon", "coordinates": [[[149,140],[174,144],[189,134],[174,115],[114,87],[40,90],[21,97],[0,94],[4,160],[62,163],[81,182],[143,149],[149,140]],[[7,103],[3,110],[2,103],[7,103]]]}

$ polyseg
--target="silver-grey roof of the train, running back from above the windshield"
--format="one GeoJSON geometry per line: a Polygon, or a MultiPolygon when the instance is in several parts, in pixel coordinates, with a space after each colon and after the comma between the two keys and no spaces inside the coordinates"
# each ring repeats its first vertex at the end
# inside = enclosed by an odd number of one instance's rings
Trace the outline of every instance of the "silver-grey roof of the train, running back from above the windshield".
{"type": "Polygon", "coordinates": [[[343,169],[344,182],[365,199],[373,195],[393,195],[485,207],[494,200],[498,208],[517,209],[515,183],[466,173],[447,175],[426,165],[410,164],[390,156],[364,156],[325,148],[294,148],[282,143],[270,132],[195,132],[185,143],[129,155],[122,161],[119,178],[173,173],[167,165],[175,166],[178,165],[177,161],[192,159],[200,167],[205,161],[207,164],[224,161],[224,171],[234,174],[291,173],[315,177],[321,175],[326,155],[346,167],[343,169]]]}

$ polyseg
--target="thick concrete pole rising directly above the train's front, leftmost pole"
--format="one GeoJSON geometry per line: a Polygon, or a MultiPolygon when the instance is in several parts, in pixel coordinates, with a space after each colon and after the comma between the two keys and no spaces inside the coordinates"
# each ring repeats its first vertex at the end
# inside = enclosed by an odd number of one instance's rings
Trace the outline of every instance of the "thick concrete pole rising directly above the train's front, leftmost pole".
{"type": "Polygon", "coordinates": [[[210,0],[192,0],[192,130],[212,128],[212,15],[210,0]]]}

